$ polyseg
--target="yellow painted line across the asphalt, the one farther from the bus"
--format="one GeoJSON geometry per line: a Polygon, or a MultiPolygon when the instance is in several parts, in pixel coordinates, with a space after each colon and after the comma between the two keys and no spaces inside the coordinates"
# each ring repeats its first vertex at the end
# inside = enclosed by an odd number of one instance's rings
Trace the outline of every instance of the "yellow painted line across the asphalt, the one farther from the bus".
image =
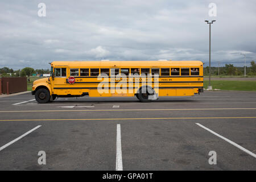
{"type": "Polygon", "coordinates": [[[85,118],[85,119],[0,119],[0,121],[99,121],[99,120],[149,120],[149,119],[240,119],[255,117],[193,117],[193,118],[85,118]]]}

